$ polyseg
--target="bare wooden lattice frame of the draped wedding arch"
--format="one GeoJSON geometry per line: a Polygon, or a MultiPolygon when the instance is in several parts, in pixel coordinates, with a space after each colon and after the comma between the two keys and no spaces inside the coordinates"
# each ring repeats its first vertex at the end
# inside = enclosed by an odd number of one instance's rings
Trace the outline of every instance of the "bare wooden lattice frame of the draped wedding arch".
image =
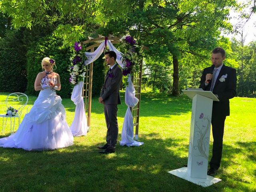
{"type": "MultiPolygon", "coordinates": [[[[81,42],[84,46],[88,43],[94,43],[91,46],[86,47],[86,51],[90,50],[90,52],[94,52],[94,48],[100,46],[100,44],[104,40],[110,40],[112,44],[121,43],[120,38],[108,35],[107,37],[98,35],[98,38],[88,37],[88,40],[81,42]]],[[[142,80],[142,64],[143,58],[140,62],[139,70],[132,70],[132,83],[135,88],[135,96],[139,99],[139,102],[133,108],[130,108],[133,116],[133,126],[135,126],[135,139],[138,139],[138,131],[139,131],[139,118],[140,118],[140,94],[141,94],[141,80],[142,80]]],[[[93,76],[93,62],[86,66],[86,74],[84,77],[84,88],[83,88],[83,98],[84,98],[84,109],[87,113],[87,126],[90,127],[91,124],[91,109],[92,109],[92,76],[93,76]]]]}

